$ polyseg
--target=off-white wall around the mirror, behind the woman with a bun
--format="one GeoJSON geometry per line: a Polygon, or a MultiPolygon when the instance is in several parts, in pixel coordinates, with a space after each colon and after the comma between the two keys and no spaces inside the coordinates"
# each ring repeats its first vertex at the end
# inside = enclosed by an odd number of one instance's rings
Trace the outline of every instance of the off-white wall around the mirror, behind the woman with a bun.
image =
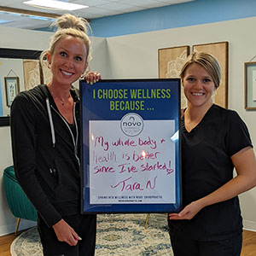
{"type": "MultiPolygon", "coordinates": [[[[15,49],[36,49],[43,50],[49,46],[51,32],[36,32],[30,30],[20,30],[13,28],[0,27],[0,48],[15,49]]],[[[90,61],[91,70],[101,70],[102,76],[107,76],[108,65],[106,61],[106,42],[104,38],[92,39],[92,61],[90,61]]],[[[1,66],[0,66],[1,68],[1,66]]],[[[0,127],[0,236],[15,231],[16,218],[9,211],[3,189],[3,169],[13,165],[11,153],[11,140],[9,126],[0,127]]],[[[25,229],[35,222],[21,219],[20,229],[25,229]]]]}

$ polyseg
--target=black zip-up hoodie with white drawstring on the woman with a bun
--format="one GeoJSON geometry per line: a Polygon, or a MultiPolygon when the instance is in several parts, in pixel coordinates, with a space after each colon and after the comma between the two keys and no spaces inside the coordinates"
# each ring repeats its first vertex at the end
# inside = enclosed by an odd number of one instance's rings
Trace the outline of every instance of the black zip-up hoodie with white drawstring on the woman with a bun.
{"type": "Polygon", "coordinates": [[[74,134],[45,84],[21,92],[11,107],[15,175],[49,227],[80,212],[79,96],[71,95],[74,134]]]}

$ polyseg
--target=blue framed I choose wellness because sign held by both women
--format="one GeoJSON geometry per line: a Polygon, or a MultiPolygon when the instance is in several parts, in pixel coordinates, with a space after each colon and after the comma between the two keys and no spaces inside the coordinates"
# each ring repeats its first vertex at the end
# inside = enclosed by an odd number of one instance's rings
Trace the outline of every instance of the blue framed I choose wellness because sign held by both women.
{"type": "Polygon", "coordinates": [[[82,212],[179,212],[180,80],[80,82],[82,212]]]}

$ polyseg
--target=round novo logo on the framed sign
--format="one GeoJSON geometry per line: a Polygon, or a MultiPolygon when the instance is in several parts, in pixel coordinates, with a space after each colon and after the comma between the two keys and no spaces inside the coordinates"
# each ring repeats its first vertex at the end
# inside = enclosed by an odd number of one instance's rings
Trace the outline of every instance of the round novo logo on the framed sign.
{"type": "Polygon", "coordinates": [[[143,127],[143,118],[137,113],[126,113],[121,119],[121,130],[127,136],[137,136],[143,131],[143,127]]]}

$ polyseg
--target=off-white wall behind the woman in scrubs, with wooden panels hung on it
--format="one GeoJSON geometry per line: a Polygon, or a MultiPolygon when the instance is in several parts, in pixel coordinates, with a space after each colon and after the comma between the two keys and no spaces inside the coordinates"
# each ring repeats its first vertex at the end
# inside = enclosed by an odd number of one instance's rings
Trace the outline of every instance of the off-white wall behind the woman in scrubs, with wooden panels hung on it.
{"type": "MultiPolygon", "coordinates": [[[[244,109],[244,62],[256,55],[255,27],[256,18],[248,18],[107,38],[109,75],[113,79],[158,78],[158,49],[228,41],[229,108],[247,123],[256,145],[256,111],[244,109]]],[[[244,226],[256,231],[256,189],[240,198],[244,226]]]]}

